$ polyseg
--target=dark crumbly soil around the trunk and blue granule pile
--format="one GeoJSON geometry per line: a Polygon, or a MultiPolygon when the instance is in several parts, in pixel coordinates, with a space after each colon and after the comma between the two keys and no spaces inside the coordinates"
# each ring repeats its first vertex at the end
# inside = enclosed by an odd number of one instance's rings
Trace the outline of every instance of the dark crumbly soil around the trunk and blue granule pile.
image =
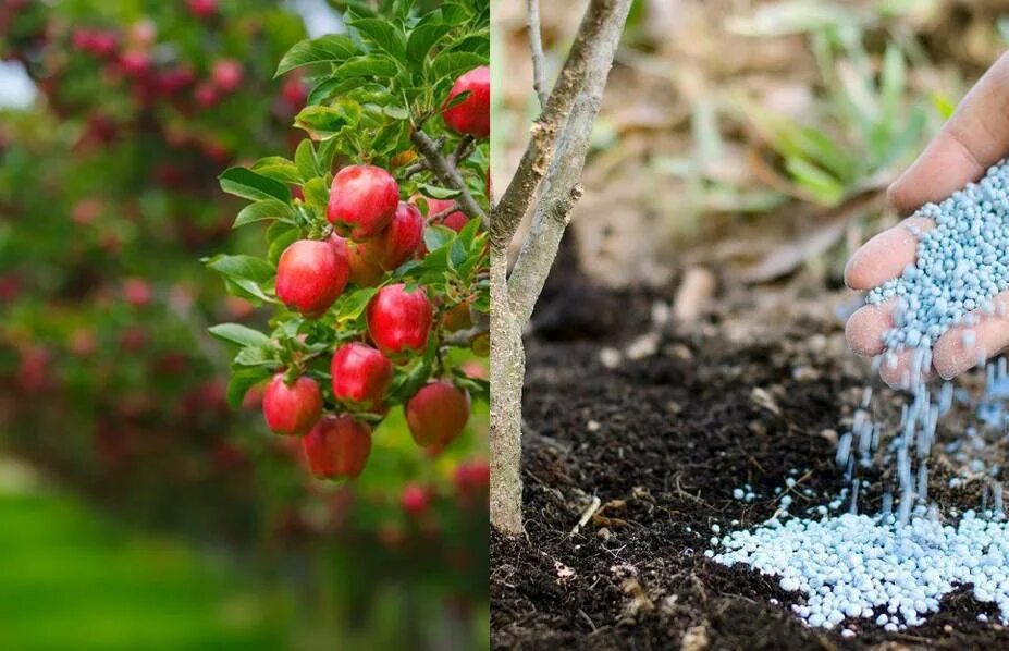
{"type": "MultiPolygon", "coordinates": [[[[858,636],[845,639],[840,629],[805,628],[789,610],[801,595],[773,577],[703,556],[712,524],[724,532],[768,518],[774,489],[790,471],[798,480],[792,513],[837,493],[833,440],[866,372],[846,352],[841,322],[827,307],[838,296],[795,292],[784,314],[762,308],[750,291],[723,295],[702,327],[665,329],[654,354],[607,366],[601,351],[626,349],[654,329],[652,303],[669,296],[610,292],[570,274],[552,279],[527,341],[527,535],[495,532],[491,542],[495,648],[1009,644],[1002,627],[976,621],[982,612],[994,621],[995,609],[968,590],[948,595],[923,626],[888,634],[859,619],[846,622],[858,636]],[[756,501],[733,499],[745,483],[756,501]],[[602,506],[573,533],[593,496],[602,506]]],[[[948,469],[938,465],[932,483],[945,486],[948,469]]]]}

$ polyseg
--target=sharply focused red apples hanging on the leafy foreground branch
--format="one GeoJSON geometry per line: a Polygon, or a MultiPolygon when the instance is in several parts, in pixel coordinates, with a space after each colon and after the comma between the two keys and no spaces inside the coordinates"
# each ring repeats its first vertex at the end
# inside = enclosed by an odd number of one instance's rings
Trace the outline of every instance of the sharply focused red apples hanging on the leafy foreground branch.
{"type": "MultiPolygon", "coordinates": [[[[442,116],[457,133],[485,138],[489,110],[490,72],[482,66],[459,77],[442,116]],[[467,95],[462,100],[452,102],[463,93],[467,95]]],[[[364,341],[344,342],[332,352],[333,414],[324,413],[319,381],[293,367],[269,381],[262,410],[273,432],[302,437],[316,477],[353,479],[371,451],[372,428],[361,415],[380,419],[387,414],[394,369],[423,356],[433,332],[472,324],[466,302],[436,305],[424,286],[392,282],[391,272],[428,255],[427,228],[460,232],[469,219],[451,199],[414,195],[404,201],[395,177],[371,164],[348,164],[335,173],[325,219],[329,226],[319,238],[297,239],[280,255],[276,297],[303,318],[319,319],[348,286],[378,287],[365,310],[364,341]],[[421,202],[427,218],[418,207],[421,202]]],[[[405,400],[404,413],[414,441],[440,450],[465,430],[470,395],[451,379],[429,378],[405,400]]],[[[404,494],[407,511],[422,509],[422,501],[420,489],[404,494]]]]}

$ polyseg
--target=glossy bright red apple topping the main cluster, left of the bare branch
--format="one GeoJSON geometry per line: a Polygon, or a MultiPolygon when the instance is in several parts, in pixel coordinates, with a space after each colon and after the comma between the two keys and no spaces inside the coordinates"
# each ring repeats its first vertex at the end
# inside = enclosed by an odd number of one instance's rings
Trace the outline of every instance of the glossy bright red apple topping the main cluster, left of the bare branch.
{"type": "Polygon", "coordinates": [[[333,177],[325,217],[352,239],[367,239],[389,225],[399,205],[396,180],[374,165],[348,165],[333,177]]]}

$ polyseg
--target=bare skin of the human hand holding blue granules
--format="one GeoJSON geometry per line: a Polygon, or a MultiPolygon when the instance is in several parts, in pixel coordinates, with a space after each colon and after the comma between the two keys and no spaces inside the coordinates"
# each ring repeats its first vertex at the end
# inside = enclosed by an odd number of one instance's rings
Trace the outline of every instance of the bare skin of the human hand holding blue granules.
{"type": "MultiPolygon", "coordinates": [[[[909,213],[923,204],[939,202],[971,181],[980,179],[1009,153],[1009,54],[1004,54],[981,77],[957,107],[938,135],[887,193],[890,204],[909,213]]],[[[845,282],[852,290],[871,290],[898,278],[913,265],[918,250],[915,230],[934,228],[932,220],[910,217],[875,235],[851,256],[845,282]]],[[[922,379],[933,374],[951,379],[1009,347],[1009,292],[993,297],[995,314],[971,312],[973,324],[953,326],[934,343],[932,364],[922,379]],[[973,334],[964,337],[964,331],[973,334]]],[[[865,305],[848,319],[845,335],[858,355],[886,352],[883,335],[894,326],[897,300],[865,305]]],[[[914,351],[896,353],[896,364],[882,364],[879,377],[890,386],[905,384],[912,372],[914,351]]]]}

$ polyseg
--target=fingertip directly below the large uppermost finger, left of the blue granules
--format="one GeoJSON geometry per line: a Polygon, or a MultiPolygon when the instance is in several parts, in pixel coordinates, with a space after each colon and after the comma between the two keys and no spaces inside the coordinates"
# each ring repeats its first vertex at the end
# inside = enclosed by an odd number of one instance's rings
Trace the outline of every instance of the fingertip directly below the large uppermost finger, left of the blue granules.
{"type": "Polygon", "coordinates": [[[914,263],[918,255],[918,237],[913,231],[934,228],[931,219],[909,217],[878,233],[851,255],[845,266],[845,284],[852,290],[871,290],[899,277],[905,267],[914,263]]]}

